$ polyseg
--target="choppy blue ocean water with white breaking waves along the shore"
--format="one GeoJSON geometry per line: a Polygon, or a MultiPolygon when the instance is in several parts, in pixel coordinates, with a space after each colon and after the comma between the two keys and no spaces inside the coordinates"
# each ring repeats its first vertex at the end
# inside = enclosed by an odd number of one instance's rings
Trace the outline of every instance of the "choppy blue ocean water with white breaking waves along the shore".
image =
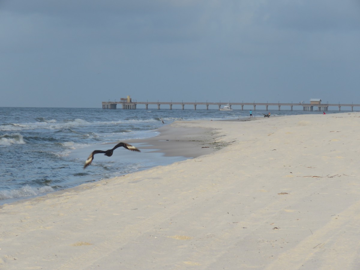
{"type": "MultiPolygon", "coordinates": [[[[271,116],[320,114],[270,112],[271,116]]],[[[257,117],[262,113],[267,111],[253,112],[257,117]]],[[[93,150],[112,148],[104,143],[156,136],[162,119],[168,124],[242,117],[249,117],[249,110],[0,107],[0,204],[185,159],[119,148],[111,158],[96,155],[93,164],[83,169],[93,150]]]]}

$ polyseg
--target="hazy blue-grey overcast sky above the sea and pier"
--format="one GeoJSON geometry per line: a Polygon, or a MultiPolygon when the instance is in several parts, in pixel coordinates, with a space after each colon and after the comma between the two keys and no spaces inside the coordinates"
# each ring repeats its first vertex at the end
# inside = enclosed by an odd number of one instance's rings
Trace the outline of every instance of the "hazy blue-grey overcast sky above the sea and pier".
{"type": "Polygon", "coordinates": [[[0,107],[360,104],[360,0],[0,0],[0,107]]]}

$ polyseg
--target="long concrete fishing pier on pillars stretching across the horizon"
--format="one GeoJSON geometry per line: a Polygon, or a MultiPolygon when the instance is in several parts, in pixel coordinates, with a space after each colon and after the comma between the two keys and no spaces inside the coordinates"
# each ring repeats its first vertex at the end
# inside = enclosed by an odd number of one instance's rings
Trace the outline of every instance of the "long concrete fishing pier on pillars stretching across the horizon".
{"type": "Polygon", "coordinates": [[[138,104],[144,104],[145,105],[145,109],[148,109],[149,104],[150,105],[157,105],[157,109],[160,109],[160,105],[169,105],[169,109],[172,110],[172,105],[181,105],[181,108],[184,109],[185,105],[193,105],[194,106],[194,110],[196,110],[196,106],[197,105],[206,105],[206,109],[209,109],[209,105],[211,106],[217,106],[218,109],[220,110],[221,105],[229,105],[229,107],[231,108],[231,106],[234,105],[240,105],[241,106],[241,110],[244,110],[244,105],[250,105],[252,106],[252,110],[256,111],[256,106],[265,106],[265,110],[268,110],[269,106],[277,106],[278,107],[278,111],[280,111],[280,107],[281,106],[290,106],[291,111],[293,110],[293,106],[302,106],[303,111],[314,111],[314,107],[317,107],[316,111],[321,111],[321,112],[325,112],[328,111],[329,106],[336,106],[340,108],[342,106],[345,107],[351,107],[351,111],[353,111],[354,107],[360,107],[360,104],[340,104],[340,102],[338,104],[329,104],[328,102],[326,104],[322,104],[321,103],[321,99],[317,99],[317,98],[312,98],[310,99],[310,103],[304,103],[303,101],[299,102],[299,103],[263,103],[263,102],[249,102],[249,103],[244,103],[244,102],[159,102],[159,100],[157,102],[138,102],[136,100],[132,100],[130,98],[130,96],[127,96],[126,98],[120,98],[120,101],[103,101],[102,102],[102,106],[103,109],[116,109],[117,104],[121,104],[122,109],[132,109],[135,110],[136,109],[136,105],[138,104]]]}

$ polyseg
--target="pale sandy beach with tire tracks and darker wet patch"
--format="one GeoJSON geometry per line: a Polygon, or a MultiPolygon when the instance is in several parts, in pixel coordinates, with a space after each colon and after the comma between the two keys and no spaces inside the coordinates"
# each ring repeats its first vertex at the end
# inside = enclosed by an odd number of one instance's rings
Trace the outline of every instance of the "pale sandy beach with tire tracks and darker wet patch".
{"type": "Polygon", "coordinates": [[[0,206],[0,269],[360,268],[359,112],[136,142],[195,158],[0,206]]]}

